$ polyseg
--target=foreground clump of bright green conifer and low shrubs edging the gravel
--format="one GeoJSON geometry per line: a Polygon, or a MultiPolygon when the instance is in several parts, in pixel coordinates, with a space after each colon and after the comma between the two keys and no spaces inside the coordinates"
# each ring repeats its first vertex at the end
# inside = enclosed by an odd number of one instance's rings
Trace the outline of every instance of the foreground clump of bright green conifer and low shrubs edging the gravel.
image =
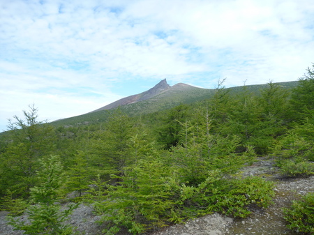
{"type": "Polygon", "coordinates": [[[173,168],[157,160],[140,161],[128,169],[117,185],[107,185],[106,197],[96,203],[105,233],[123,227],[132,234],[183,222],[219,211],[235,217],[249,215],[250,206],[268,206],[274,196],[273,183],[258,177],[223,179],[218,170],[207,172],[198,185],[187,185],[173,168]],[[170,174],[172,172],[172,174],[170,174]]]}

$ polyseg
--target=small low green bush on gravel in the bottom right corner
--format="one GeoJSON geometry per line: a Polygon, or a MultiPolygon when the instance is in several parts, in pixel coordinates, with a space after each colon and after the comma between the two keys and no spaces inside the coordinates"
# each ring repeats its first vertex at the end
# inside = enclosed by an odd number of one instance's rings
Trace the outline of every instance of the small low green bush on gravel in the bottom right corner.
{"type": "Polygon", "coordinates": [[[287,227],[304,234],[314,234],[314,193],[310,192],[284,209],[287,227]]]}

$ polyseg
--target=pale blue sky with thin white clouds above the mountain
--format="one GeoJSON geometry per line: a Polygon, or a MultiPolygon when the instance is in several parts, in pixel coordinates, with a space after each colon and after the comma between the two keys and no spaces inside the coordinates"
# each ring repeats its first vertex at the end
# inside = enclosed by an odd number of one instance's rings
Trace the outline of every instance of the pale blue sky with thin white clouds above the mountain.
{"type": "Polygon", "coordinates": [[[313,0],[0,0],[0,132],[29,105],[54,121],[165,78],[295,81],[314,62],[313,26],[313,0]]]}

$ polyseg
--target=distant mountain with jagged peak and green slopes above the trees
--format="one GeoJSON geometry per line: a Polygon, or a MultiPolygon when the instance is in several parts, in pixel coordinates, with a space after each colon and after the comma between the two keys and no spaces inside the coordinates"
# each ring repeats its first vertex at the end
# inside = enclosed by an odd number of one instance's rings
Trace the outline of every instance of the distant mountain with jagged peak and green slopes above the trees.
{"type": "MultiPolygon", "coordinates": [[[[276,84],[281,86],[283,89],[292,89],[297,86],[297,81],[279,82],[276,84]]],[[[258,94],[261,89],[267,87],[267,84],[235,86],[226,88],[226,90],[230,91],[230,93],[236,94],[243,91],[244,87],[247,91],[258,94]]],[[[114,103],[100,107],[99,109],[87,114],[54,121],[53,124],[56,126],[62,126],[105,121],[109,115],[107,110],[117,107],[120,107],[123,112],[126,112],[126,114],[130,116],[149,114],[164,109],[170,109],[180,104],[192,104],[198,101],[207,100],[214,95],[215,91],[216,89],[203,89],[184,83],[178,83],[174,86],[170,86],[167,84],[167,80],[163,79],[148,91],[122,98],[121,100],[117,100],[114,103]]]]}

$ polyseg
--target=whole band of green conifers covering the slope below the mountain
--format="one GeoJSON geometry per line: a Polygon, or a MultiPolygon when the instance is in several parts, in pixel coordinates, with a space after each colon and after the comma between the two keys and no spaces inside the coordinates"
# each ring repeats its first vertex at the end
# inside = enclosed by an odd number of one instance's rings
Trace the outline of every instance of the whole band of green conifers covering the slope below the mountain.
{"type": "Polygon", "coordinates": [[[59,208],[51,210],[69,201],[94,205],[106,234],[140,234],[214,211],[246,217],[273,195],[269,181],[235,175],[258,156],[274,158],[283,176],[314,174],[313,69],[294,89],[270,82],[258,94],[245,86],[231,93],[220,83],[202,102],[133,117],[115,109],[89,125],[54,127],[30,106],[2,135],[2,209],[31,208],[31,225],[11,218],[27,234],[71,234],[59,208]],[[55,220],[38,230],[43,211],[55,220]]]}

